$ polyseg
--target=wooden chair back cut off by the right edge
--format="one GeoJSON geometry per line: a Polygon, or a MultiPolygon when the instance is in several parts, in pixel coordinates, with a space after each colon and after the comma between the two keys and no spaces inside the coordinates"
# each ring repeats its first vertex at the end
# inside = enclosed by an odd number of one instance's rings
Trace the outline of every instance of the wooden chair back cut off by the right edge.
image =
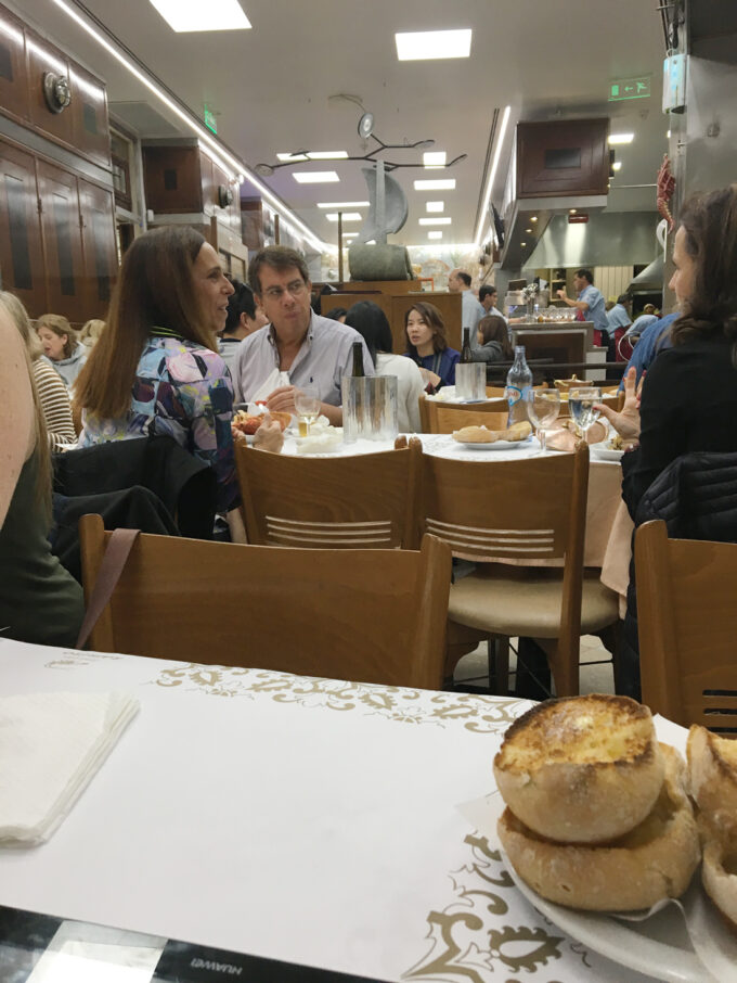
{"type": "Polygon", "coordinates": [[[688,727],[737,732],[737,544],[635,534],[643,703],[688,727]]]}

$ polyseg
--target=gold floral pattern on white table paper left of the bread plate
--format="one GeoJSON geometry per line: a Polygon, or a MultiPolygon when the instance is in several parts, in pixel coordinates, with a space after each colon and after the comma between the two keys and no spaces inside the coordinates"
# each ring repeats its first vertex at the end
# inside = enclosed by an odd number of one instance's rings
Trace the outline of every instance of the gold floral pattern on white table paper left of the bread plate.
{"type": "Polygon", "coordinates": [[[499,850],[478,832],[464,839],[468,860],[450,873],[453,901],[427,915],[429,948],[402,974],[410,983],[517,983],[510,974],[539,974],[545,983],[568,979],[571,960],[589,967],[587,953],[557,934],[526,907],[504,869],[499,850]],[[525,923],[520,923],[520,917],[525,923]]]}

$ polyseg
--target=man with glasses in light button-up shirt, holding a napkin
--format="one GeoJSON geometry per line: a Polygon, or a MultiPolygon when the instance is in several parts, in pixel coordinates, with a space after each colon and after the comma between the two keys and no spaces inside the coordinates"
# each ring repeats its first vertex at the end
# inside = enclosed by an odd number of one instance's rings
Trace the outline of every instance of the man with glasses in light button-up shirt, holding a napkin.
{"type": "Polygon", "coordinates": [[[233,370],[237,401],[264,399],[272,412],[296,416],[295,395],[311,385],[320,396],[320,412],[339,426],[341,380],[351,374],[355,342],[362,346],[364,373],[374,374],[361,335],[312,310],[307,264],[296,250],[261,250],[248,267],[248,282],[269,324],[238,348],[233,370]]]}

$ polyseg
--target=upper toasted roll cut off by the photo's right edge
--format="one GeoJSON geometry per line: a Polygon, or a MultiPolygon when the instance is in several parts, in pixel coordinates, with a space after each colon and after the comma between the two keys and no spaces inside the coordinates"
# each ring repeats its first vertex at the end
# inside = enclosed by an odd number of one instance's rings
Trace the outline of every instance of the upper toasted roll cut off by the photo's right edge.
{"type": "Polygon", "coordinates": [[[686,753],[696,804],[717,835],[737,843],[737,741],[694,724],[686,753]]]}

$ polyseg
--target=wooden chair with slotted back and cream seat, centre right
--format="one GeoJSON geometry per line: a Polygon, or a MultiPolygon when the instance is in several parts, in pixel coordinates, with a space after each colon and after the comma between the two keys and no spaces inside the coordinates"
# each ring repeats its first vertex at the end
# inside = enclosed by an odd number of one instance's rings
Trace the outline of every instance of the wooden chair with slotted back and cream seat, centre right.
{"type": "MultiPolygon", "coordinates": [[[[483,564],[451,587],[450,622],[491,643],[499,637],[539,640],[559,697],[579,691],[580,636],[619,616],[617,595],[598,575],[583,573],[587,477],[584,445],[574,454],[519,461],[423,460],[422,531],[444,539],[453,556],[483,564]]],[[[503,691],[506,651],[500,647],[495,674],[503,691]]]]}

